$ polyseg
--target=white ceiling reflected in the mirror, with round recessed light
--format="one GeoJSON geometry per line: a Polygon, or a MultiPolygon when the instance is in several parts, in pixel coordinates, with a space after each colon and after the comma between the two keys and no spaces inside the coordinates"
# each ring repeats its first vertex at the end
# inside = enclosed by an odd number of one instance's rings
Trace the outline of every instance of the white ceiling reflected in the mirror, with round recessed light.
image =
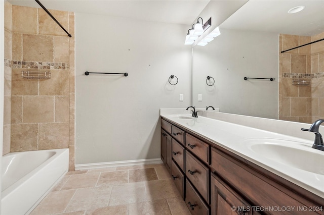
{"type": "Polygon", "coordinates": [[[250,0],[220,28],[313,36],[324,32],[324,0],[250,0]],[[305,9],[288,14],[288,10],[297,6],[305,9]]]}

